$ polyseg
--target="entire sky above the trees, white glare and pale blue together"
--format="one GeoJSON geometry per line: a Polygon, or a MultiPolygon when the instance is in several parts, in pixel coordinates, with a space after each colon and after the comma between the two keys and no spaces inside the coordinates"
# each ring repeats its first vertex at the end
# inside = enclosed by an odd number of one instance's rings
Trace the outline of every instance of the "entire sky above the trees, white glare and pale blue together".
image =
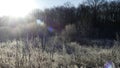
{"type": "Polygon", "coordinates": [[[0,16],[25,17],[35,8],[44,10],[71,2],[77,6],[83,0],[0,0],[0,16]]]}

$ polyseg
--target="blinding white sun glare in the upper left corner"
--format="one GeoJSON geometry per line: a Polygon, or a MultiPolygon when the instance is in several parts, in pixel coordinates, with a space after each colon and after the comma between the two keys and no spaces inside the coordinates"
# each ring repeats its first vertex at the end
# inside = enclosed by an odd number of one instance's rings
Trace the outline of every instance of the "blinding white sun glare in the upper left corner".
{"type": "Polygon", "coordinates": [[[35,8],[35,0],[0,0],[0,16],[24,17],[35,8]]]}

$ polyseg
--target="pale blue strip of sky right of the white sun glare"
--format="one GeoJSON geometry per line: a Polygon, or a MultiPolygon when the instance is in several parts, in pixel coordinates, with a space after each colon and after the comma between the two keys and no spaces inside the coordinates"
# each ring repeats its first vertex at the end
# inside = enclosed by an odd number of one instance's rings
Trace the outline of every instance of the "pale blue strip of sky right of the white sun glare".
{"type": "Polygon", "coordinates": [[[71,4],[78,6],[83,0],[36,0],[36,2],[40,9],[44,9],[64,5],[66,2],[71,2],[71,4]]]}

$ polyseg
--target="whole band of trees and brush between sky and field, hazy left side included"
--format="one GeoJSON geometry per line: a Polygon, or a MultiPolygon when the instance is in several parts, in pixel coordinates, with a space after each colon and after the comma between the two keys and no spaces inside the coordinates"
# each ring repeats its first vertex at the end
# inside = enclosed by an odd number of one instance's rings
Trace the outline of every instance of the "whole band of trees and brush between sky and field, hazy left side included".
{"type": "MultiPolygon", "coordinates": [[[[66,39],[73,41],[79,41],[82,38],[113,40],[116,39],[116,35],[119,36],[120,34],[119,18],[119,0],[87,0],[82,4],[79,4],[78,7],[75,7],[70,2],[67,2],[62,6],[56,6],[49,9],[47,8],[43,11],[36,9],[29,14],[28,18],[25,19],[11,20],[9,17],[1,17],[0,39],[5,39],[4,36],[6,34],[8,34],[8,36],[10,35],[9,33],[12,30],[8,30],[9,28],[17,28],[21,29],[20,31],[23,32],[20,32],[20,34],[23,35],[19,35],[19,37],[26,37],[28,34],[29,36],[34,35],[36,37],[41,37],[42,32],[45,30],[48,35],[59,34],[66,39]],[[36,24],[31,26],[31,23],[35,23],[38,19],[46,24],[45,28],[36,24]],[[15,23],[11,24],[9,28],[3,28],[3,26],[8,25],[8,22],[15,23]],[[21,23],[22,25],[19,24],[20,26],[16,26],[18,25],[16,22],[21,23]],[[21,27],[26,25],[25,23],[30,24],[28,25],[28,28],[26,26],[21,27]],[[25,28],[26,31],[23,28],[25,28]],[[31,30],[28,31],[27,29],[29,28],[31,30]],[[4,29],[6,29],[6,32],[4,29]],[[2,36],[2,34],[4,36],[2,36]]],[[[19,30],[16,31],[19,32],[19,30]]],[[[11,35],[14,34],[11,33],[11,35]]]]}

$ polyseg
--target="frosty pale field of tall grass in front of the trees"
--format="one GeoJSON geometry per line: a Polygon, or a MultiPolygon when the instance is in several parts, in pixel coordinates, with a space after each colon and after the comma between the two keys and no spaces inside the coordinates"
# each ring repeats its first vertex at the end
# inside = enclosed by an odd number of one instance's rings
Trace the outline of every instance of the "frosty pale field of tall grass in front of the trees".
{"type": "Polygon", "coordinates": [[[43,50],[40,40],[1,42],[0,67],[103,68],[107,61],[114,62],[116,68],[120,65],[120,46],[117,44],[110,49],[81,46],[75,42],[53,45],[46,44],[43,50]]]}

